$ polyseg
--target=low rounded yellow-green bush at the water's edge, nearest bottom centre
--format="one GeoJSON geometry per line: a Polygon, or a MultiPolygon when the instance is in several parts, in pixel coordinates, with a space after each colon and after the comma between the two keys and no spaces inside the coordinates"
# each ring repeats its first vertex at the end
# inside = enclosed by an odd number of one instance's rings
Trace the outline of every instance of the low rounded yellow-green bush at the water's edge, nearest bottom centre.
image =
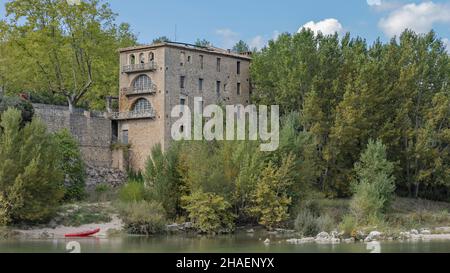
{"type": "Polygon", "coordinates": [[[184,209],[189,214],[194,228],[202,233],[230,232],[234,230],[234,215],[231,205],[213,193],[195,192],[184,196],[184,209]]]}

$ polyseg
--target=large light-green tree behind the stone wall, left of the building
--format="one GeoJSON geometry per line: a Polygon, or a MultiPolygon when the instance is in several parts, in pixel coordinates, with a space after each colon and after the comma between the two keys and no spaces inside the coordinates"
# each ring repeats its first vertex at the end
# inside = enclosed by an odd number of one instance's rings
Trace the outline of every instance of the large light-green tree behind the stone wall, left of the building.
{"type": "Polygon", "coordinates": [[[71,109],[104,107],[118,81],[118,47],[136,44],[101,0],[14,0],[6,4],[9,92],[50,92],[71,109]],[[116,68],[116,69],[113,69],[116,68]]]}

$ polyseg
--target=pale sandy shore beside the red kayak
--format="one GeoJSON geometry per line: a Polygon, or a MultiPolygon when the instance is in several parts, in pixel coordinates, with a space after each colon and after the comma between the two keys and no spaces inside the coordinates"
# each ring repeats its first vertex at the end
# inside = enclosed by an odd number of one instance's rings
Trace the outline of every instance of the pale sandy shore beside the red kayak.
{"type": "Polygon", "coordinates": [[[110,230],[123,229],[123,222],[117,215],[112,215],[111,218],[112,218],[111,222],[103,224],[88,224],[79,227],[58,226],[54,229],[52,228],[30,229],[30,230],[16,229],[14,230],[14,232],[19,233],[20,234],[19,236],[21,237],[31,239],[44,239],[44,238],[64,238],[64,235],[68,233],[79,233],[100,228],[100,232],[95,234],[95,237],[106,237],[108,231],[110,230]]]}

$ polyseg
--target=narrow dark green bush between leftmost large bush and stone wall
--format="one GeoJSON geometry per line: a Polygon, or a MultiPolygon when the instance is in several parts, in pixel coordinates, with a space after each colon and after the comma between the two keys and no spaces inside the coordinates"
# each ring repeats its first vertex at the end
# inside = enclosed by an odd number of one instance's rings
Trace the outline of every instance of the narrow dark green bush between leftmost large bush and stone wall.
{"type": "Polygon", "coordinates": [[[66,201],[82,200],[86,197],[85,169],[77,140],[67,129],[54,135],[58,154],[61,156],[60,168],[65,174],[64,187],[66,201]]]}

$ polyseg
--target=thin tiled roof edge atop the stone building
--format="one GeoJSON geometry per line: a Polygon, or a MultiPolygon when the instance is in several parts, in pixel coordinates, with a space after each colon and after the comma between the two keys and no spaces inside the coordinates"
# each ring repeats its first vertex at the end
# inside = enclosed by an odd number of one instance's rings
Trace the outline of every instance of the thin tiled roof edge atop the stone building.
{"type": "Polygon", "coordinates": [[[121,48],[119,49],[120,53],[123,52],[130,52],[130,51],[138,51],[138,50],[146,50],[146,49],[154,49],[159,47],[175,47],[180,49],[186,49],[186,50],[192,50],[192,51],[199,51],[199,52],[205,52],[209,54],[217,54],[217,55],[224,55],[232,58],[239,58],[239,59],[245,59],[245,60],[251,60],[251,52],[245,52],[242,54],[232,52],[231,50],[226,50],[218,47],[213,46],[197,46],[193,44],[187,44],[187,43],[178,43],[178,42],[161,42],[151,45],[140,45],[140,46],[133,46],[133,47],[127,47],[127,48],[121,48]]]}

